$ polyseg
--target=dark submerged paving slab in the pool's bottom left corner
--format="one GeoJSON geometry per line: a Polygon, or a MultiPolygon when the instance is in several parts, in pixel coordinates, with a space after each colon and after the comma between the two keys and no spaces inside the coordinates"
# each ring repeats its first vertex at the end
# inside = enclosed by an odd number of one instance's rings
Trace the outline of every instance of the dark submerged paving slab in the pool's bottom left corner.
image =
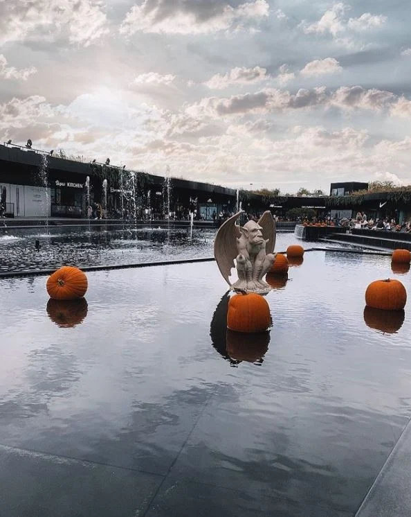
{"type": "Polygon", "coordinates": [[[162,481],[126,468],[0,446],[0,517],[136,517],[162,481]]]}

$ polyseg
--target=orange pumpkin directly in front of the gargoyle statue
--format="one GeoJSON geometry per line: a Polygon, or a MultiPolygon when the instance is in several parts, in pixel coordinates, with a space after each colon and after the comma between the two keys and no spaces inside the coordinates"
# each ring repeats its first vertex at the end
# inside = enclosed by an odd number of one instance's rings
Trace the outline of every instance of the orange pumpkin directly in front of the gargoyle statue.
{"type": "Polygon", "coordinates": [[[271,324],[266,299],[255,292],[234,295],[228,302],[227,326],[237,332],[264,332],[271,324]]]}

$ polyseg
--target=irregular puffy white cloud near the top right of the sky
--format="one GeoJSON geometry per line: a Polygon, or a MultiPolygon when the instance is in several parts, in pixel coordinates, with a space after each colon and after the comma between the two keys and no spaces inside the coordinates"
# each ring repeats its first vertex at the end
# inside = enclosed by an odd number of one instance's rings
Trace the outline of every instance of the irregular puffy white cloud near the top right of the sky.
{"type": "Polygon", "coordinates": [[[325,11],[324,15],[313,23],[304,20],[300,27],[306,34],[316,35],[331,35],[334,40],[345,46],[352,46],[354,44],[353,37],[356,33],[363,33],[367,30],[381,28],[387,17],[383,15],[372,15],[369,12],[364,12],[363,15],[357,18],[345,17],[345,12],[350,9],[350,6],[343,2],[334,3],[329,10],[325,11]]]}

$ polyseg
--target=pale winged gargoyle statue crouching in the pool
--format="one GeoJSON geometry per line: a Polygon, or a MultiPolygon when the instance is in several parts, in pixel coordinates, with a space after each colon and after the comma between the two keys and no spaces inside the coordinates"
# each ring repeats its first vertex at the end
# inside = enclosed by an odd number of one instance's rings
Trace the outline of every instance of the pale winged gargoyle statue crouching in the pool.
{"type": "Polygon", "coordinates": [[[268,292],[271,287],[263,280],[275,260],[275,222],[270,211],[258,222],[250,220],[244,227],[235,222],[242,211],[221,225],[214,240],[214,257],[223,278],[234,290],[268,292]],[[264,236],[266,238],[264,238],[264,236]],[[228,277],[237,262],[238,280],[231,284],[228,277]]]}

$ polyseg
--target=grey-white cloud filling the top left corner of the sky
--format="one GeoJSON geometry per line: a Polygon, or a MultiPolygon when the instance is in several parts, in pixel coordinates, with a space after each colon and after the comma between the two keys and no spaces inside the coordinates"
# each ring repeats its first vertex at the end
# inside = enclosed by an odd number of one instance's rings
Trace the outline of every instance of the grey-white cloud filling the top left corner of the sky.
{"type": "Polygon", "coordinates": [[[99,0],[16,0],[0,3],[0,45],[58,42],[89,46],[107,34],[99,0]]]}

